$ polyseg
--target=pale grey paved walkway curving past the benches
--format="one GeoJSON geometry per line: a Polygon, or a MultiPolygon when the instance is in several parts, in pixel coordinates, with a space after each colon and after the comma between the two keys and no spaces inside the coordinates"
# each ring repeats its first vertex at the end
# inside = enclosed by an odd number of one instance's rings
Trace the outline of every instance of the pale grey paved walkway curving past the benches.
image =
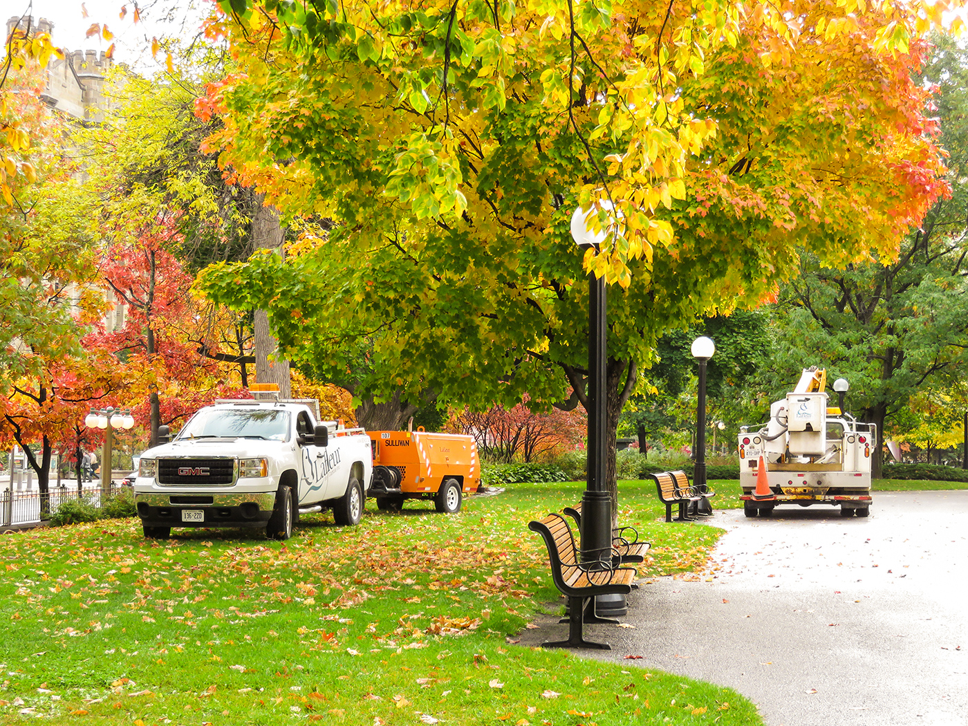
{"type": "MultiPolygon", "coordinates": [[[[768,726],[968,725],[968,491],[875,494],[866,519],[708,521],[727,530],[713,571],[643,584],[634,628],[586,626],[613,650],[576,652],[731,686],[768,726]]],[[[567,636],[535,624],[522,645],[567,636]]]]}

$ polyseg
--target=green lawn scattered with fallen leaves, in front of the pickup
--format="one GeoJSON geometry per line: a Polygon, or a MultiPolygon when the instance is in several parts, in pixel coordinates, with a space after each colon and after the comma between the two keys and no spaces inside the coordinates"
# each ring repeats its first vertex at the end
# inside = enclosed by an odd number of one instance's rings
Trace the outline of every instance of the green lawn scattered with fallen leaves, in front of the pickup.
{"type": "MultiPolygon", "coordinates": [[[[312,515],[285,543],[223,529],[149,541],[133,520],[7,535],[0,720],[762,723],[727,688],[513,645],[561,603],[527,524],[583,490],[516,485],[453,516],[371,503],[358,527],[312,515]]],[[[644,575],[703,568],[721,530],[662,522],[647,482],[620,497],[620,522],[653,544],[644,575]]]]}

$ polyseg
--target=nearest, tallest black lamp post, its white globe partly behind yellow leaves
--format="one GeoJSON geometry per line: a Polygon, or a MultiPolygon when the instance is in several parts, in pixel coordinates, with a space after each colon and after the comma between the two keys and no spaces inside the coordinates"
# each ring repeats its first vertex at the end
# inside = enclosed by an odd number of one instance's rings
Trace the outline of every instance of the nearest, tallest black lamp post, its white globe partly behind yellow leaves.
{"type": "MultiPolygon", "coordinates": [[[[600,202],[610,209],[608,201],[600,202]]],[[[593,232],[586,226],[586,217],[594,214],[579,207],[571,216],[571,236],[579,247],[598,245],[605,241],[606,231],[593,232]]],[[[588,485],[582,498],[581,554],[582,561],[611,559],[612,553],[612,494],[605,479],[606,412],[606,300],[605,280],[589,273],[589,454],[588,485]]],[[[599,595],[596,607],[586,613],[586,622],[602,621],[595,615],[624,615],[628,612],[624,595],[599,595]]],[[[614,620],[604,620],[614,622],[614,620]]]]}

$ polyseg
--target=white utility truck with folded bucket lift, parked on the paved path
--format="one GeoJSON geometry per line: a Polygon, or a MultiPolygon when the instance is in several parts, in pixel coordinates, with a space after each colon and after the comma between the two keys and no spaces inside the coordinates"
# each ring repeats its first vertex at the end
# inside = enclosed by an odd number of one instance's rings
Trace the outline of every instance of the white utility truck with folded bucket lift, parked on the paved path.
{"type": "Polygon", "coordinates": [[[828,407],[826,372],[803,371],[797,387],[770,408],[761,427],[741,427],[740,484],[747,517],[779,504],[840,507],[845,517],[870,511],[870,469],[877,429],[828,407]]]}

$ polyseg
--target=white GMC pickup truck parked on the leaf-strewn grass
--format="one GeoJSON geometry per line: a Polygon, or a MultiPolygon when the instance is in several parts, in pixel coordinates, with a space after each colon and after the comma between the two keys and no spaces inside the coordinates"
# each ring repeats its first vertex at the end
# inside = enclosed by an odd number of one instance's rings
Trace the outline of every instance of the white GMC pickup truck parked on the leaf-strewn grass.
{"type": "Polygon", "coordinates": [[[135,504],[144,536],[172,527],[264,527],[287,539],[300,514],[355,525],[373,478],[363,429],[318,423],[294,401],[220,401],[141,455],[135,504]]]}

